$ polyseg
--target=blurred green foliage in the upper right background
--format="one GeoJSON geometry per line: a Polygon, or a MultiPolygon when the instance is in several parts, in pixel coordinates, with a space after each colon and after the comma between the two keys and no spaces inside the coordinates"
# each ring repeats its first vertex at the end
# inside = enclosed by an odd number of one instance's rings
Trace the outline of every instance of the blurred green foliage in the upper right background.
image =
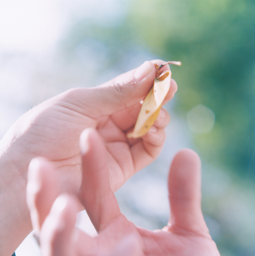
{"type": "Polygon", "coordinates": [[[255,177],[254,1],[134,1],[127,23],[136,42],[172,66],[177,111],[202,103],[216,114],[213,131],[195,136],[207,161],[255,177]]]}

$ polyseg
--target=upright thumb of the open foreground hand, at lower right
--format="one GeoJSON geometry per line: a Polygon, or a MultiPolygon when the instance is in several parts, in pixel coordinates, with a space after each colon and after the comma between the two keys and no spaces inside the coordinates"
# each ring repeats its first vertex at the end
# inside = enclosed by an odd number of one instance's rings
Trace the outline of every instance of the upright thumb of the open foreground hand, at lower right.
{"type": "Polygon", "coordinates": [[[201,210],[201,162],[191,149],[182,149],[173,160],[168,177],[171,229],[208,231],[201,210]]]}

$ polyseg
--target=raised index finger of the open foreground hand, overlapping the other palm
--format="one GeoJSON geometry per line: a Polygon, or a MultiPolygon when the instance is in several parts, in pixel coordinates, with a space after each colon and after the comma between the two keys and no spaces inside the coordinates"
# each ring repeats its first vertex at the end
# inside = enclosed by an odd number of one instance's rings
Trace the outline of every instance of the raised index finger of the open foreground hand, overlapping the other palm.
{"type": "Polygon", "coordinates": [[[80,138],[82,183],[80,197],[97,232],[121,215],[110,186],[106,148],[98,133],[88,128],[80,138]]]}

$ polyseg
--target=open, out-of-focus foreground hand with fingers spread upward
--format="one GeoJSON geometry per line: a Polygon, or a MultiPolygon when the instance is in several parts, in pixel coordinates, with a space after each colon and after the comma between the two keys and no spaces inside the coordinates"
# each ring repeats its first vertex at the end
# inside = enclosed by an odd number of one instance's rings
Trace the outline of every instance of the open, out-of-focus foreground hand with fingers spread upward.
{"type": "Polygon", "coordinates": [[[106,147],[96,131],[86,131],[81,149],[80,199],[59,195],[50,162],[35,159],[30,164],[27,200],[43,256],[219,255],[201,211],[200,159],[195,152],[183,149],[174,157],[168,178],[171,217],[162,230],[150,231],[121,214],[110,188],[106,147]],[[80,200],[97,237],[74,227],[80,200]]]}

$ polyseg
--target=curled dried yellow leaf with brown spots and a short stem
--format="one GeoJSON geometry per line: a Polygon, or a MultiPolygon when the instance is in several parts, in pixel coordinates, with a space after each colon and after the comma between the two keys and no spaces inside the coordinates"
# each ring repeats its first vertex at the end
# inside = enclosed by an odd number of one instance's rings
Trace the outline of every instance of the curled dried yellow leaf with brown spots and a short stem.
{"type": "Polygon", "coordinates": [[[139,138],[144,136],[156,121],[162,102],[170,88],[171,71],[161,71],[160,69],[167,64],[181,65],[181,62],[168,61],[156,67],[156,78],[149,93],[145,97],[139,112],[134,130],[127,134],[128,138],[139,138]]]}

